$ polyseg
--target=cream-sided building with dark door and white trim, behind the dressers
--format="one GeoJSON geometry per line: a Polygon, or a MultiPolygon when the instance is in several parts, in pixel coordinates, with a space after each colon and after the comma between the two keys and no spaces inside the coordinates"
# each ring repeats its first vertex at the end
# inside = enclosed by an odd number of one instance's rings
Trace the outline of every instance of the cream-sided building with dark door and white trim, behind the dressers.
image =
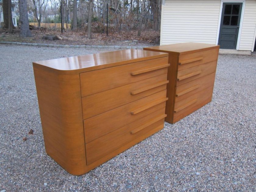
{"type": "Polygon", "coordinates": [[[162,0],[160,45],[198,42],[255,50],[256,0],[162,0]]]}

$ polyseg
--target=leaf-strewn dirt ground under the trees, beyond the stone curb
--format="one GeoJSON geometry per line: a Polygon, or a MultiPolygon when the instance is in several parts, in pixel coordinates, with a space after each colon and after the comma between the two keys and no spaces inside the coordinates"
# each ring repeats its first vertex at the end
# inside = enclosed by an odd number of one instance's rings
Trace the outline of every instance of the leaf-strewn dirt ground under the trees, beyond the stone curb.
{"type": "Polygon", "coordinates": [[[160,32],[153,30],[142,31],[141,36],[137,37],[137,31],[110,32],[108,36],[103,33],[92,33],[92,39],[87,39],[87,31],[66,30],[61,33],[60,30],[52,29],[34,29],[31,30],[33,37],[19,37],[19,30],[14,30],[13,34],[5,33],[0,30],[0,41],[42,43],[42,44],[60,44],[60,45],[117,45],[117,46],[153,46],[159,45],[160,32]],[[44,40],[45,35],[59,35],[62,40],[44,40]]]}

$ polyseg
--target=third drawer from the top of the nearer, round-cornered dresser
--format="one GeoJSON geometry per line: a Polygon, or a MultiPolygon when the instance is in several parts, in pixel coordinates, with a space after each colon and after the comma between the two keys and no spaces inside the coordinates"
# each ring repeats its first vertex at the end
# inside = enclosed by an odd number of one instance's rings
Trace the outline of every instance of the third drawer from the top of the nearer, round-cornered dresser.
{"type": "Polygon", "coordinates": [[[166,90],[84,120],[85,143],[165,107],[166,90]]]}

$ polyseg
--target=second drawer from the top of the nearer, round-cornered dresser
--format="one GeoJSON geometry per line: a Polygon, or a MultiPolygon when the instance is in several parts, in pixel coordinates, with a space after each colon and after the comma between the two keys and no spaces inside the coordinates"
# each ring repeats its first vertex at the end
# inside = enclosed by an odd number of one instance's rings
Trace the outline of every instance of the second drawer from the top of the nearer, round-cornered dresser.
{"type": "Polygon", "coordinates": [[[82,98],[83,118],[88,119],[166,89],[167,73],[82,98]]]}

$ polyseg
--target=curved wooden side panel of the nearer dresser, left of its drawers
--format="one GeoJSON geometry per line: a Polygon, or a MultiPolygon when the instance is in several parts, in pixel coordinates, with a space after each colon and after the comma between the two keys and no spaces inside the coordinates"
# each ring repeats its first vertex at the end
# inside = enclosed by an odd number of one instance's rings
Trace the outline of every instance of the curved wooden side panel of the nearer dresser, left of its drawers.
{"type": "Polygon", "coordinates": [[[79,74],[33,64],[45,149],[73,175],[86,169],[79,74]]]}

